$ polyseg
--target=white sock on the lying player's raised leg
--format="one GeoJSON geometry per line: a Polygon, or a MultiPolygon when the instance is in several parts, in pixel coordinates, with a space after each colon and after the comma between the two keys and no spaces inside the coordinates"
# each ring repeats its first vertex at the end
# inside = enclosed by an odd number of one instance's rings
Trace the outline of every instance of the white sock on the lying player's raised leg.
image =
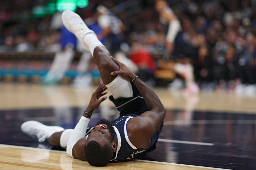
{"type": "MultiPolygon", "coordinates": [[[[89,28],[88,28],[89,29],[89,28]]],[[[90,30],[90,29],[89,29],[90,30]]],[[[85,44],[88,45],[90,52],[92,53],[92,57],[93,57],[93,51],[94,48],[96,48],[97,46],[104,46],[98,39],[97,35],[92,31],[88,31],[88,33],[86,33],[84,35],[83,38],[85,44]]],[[[105,46],[104,46],[105,47],[105,46]]]]}

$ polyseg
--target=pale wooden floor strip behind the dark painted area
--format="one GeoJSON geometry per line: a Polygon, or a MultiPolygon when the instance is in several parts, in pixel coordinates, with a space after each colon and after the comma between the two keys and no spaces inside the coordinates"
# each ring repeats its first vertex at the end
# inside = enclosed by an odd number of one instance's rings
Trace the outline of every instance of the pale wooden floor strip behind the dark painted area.
{"type": "MultiPolygon", "coordinates": [[[[71,85],[37,85],[0,83],[0,110],[86,106],[96,87],[74,88],[71,85]]],[[[167,109],[255,113],[255,95],[236,95],[227,92],[200,92],[187,95],[165,88],[154,89],[167,109]]],[[[108,94],[110,94],[108,92],[108,94]]],[[[110,100],[102,105],[114,106],[110,100]]]]}

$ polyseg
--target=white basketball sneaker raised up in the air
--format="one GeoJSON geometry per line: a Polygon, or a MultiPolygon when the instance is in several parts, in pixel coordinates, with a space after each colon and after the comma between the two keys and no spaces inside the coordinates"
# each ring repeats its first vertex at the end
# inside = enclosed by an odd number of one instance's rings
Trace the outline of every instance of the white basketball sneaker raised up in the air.
{"type": "Polygon", "coordinates": [[[86,26],[83,19],[78,14],[70,10],[63,11],[61,17],[62,22],[68,31],[76,35],[76,38],[80,41],[86,51],[90,51],[83,38],[85,34],[94,32],[86,26]]]}

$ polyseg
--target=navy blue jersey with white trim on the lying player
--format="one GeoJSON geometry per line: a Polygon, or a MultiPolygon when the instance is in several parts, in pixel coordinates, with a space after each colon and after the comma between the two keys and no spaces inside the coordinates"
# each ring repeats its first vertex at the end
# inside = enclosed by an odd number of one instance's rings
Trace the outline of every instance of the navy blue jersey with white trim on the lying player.
{"type": "MultiPolygon", "coordinates": [[[[128,132],[126,129],[127,122],[136,116],[140,116],[140,115],[138,115],[138,114],[124,115],[124,116],[119,117],[118,119],[112,121],[113,127],[116,132],[116,137],[117,137],[117,149],[116,149],[116,153],[114,153],[113,159],[111,161],[133,159],[142,154],[145,154],[146,152],[155,150],[155,148],[156,148],[155,145],[156,145],[157,139],[159,137],[159,134],[161,132],[163,124],[159,128],[158,132],[152,136],[151,143],[150,143],[149,147],[147,149],[140,149],[132,144],[132,142],[129,139],[128,132]]],[[[88,131],[87,133],[90,133],[90,131],[88,131]]],[[[87,136],[86,136],[86,138],[87,138],[87,136]]]]}

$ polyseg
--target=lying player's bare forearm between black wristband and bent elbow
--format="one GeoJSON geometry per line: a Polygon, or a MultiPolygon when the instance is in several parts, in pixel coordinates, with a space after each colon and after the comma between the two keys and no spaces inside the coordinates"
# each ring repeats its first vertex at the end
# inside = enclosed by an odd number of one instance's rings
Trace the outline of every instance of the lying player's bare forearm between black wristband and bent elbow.
{"type": "Polygon", "coordinates": [[[161,103],[156,93],[150,87],[148,87],[143,81],[137,78],[133,81],[133,83],[137,87],[137,89],[140,91],[149,110],[154,109],[159,113],[165,110],[163,104],[161,103]]]}

